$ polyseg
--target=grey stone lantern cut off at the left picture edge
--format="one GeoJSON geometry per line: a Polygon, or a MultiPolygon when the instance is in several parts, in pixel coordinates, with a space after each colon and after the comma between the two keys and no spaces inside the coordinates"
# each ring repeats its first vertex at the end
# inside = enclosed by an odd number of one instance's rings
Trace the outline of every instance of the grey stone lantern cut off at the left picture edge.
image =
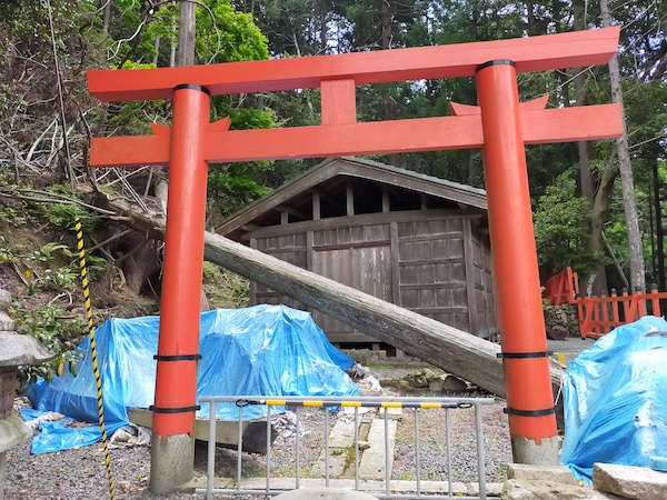
{"type": "Polygon", "coordinates": [[[32,438],[32,430],[13,414],[17,376],[21,364],[40,364],[53,354],[34,337],[14,331],[14,322],[7,316],[11,294],[0,289],[0,500],[4,497],[4,467],[7,450],[32,438]]]}

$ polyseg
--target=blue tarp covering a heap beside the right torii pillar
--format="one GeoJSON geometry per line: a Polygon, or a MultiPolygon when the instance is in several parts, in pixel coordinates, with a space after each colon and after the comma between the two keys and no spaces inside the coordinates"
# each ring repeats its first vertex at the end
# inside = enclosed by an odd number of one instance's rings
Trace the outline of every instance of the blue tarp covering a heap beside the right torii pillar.
{"type": "Polygon", "coordinates": [[[601,337],[565,372],[560,460],[590,483],[595,462],[649,467],[667,456],[667,321],[647,316],[601,337]]]}

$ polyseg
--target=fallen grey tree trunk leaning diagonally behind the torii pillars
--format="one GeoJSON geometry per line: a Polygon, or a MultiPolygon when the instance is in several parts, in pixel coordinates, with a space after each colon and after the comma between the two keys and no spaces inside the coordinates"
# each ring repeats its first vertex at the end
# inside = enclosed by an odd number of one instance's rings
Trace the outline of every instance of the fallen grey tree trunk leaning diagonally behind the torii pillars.
{"type": "MultiPolygon", "coordinates": [[[[129,219],[126,223],[150,238],[163,238],[165,219],[138,212],[125,200],[110,200],[98,194],[97,203],[125,216],[129,219]]],[[[212,232],[206,233],[205,259],[280,291],[489,392],[506,397],[502,361],[496,356],[500,347],[496,343],[212,232]]],[[[563,366],[552,361],[554,393],[558,393],[563,374],[563,366]]]]}

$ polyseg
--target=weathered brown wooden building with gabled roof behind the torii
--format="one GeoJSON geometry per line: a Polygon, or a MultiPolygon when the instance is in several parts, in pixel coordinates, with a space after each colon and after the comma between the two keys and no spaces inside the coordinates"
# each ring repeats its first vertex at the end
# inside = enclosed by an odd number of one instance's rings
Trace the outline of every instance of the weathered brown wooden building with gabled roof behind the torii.
{"type": "MultiPolygon", "coordinates": [[[[495,338],[486,192],[358,158],[326,160],[219,234],[482,338],[495,338]]],[[[305,307],[251,283],[250,303],[305,307]]],[[[377,342],[311,310],[334,343],[377,342]]]]}

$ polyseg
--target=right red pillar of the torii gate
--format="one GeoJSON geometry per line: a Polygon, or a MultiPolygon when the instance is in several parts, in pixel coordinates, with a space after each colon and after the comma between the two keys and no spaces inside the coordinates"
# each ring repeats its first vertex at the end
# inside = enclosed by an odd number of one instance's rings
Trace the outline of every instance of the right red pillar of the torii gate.
{"type": "MultiPolygon", "coordinates": [[[[494,286],[502,352],[545,352],[547,336],[532,231],[532,212],[516,69],[498,63],[477,73],[484,129],[494,286]]],[[[537,111],[530,111],[535,113],[537,111]]],[[[554,407],[548,358],[504,359],[507,406],[534,411],[554,407]]],[[[556,416],[509,414],[514,437],[535,440],[558,436],[556,416]]]]}

